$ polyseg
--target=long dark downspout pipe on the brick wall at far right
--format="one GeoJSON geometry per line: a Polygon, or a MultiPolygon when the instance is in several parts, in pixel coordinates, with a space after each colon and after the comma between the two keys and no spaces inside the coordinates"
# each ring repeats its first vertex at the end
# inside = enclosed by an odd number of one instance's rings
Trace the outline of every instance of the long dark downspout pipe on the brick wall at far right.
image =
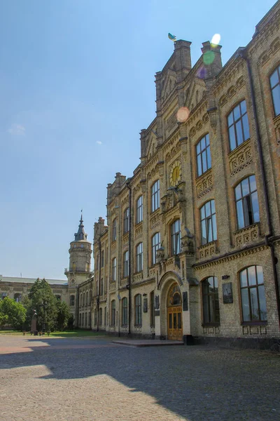
{"type": "Polygon", "coordinates": [[[257,114],[257,107],[255,102],[255,90],[253,86],[253,75],[251,69],[251,63],[248,59],[248,53],[246,48],[240,49],[239,55],[246,61],[247,70],[248,70],[248,79],[250,84],[250,92],[251,92],[251,99],[252,99],[252,107],[253,107],[253,117],[255,119],[255,133],[257,135],[257,143],[258,143],[258,151],[259,151],[259,159],[260,159],[260,173],[262,176],[262,185],[263,185],[263,193],[265,199],[265,212],[267,215],[267,225],[268,225],[268,234],[265,236],[265,244],[270,248],[270,255],[272,259],[272,269],[273,269],[273,277],[274,277],[274,286],[275,286],[275,293],[276,293],[276,306],[278,312],[278,320],[279,320],[279,328],[280,328],[280,295],[279,295],[279,284],[277,279],[277,269],[276,269],[276,257],[274,253],[274,244],[269,241],[269,238],[272,236],[272,218],[269,210],[269,200],[268,200],[268,191],[267,191],[267,182],[265,177],[265,166],[263,161],[263,152],[262,152],[262,143],[260,141],[260,125],[258,122],[258,114],[257,114]]]}

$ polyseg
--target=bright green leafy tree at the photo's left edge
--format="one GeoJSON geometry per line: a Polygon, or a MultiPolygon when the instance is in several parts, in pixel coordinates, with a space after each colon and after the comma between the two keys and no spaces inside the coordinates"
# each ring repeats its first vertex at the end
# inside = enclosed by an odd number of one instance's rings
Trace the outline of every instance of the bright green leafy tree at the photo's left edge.
{"type": "Polygon", "coordinates": [[[27,310],[20,302],[12,298],[4,298],[0,301],[0,324],[8,324],[15,329],[21,329],[25,322],[27,310]]]}

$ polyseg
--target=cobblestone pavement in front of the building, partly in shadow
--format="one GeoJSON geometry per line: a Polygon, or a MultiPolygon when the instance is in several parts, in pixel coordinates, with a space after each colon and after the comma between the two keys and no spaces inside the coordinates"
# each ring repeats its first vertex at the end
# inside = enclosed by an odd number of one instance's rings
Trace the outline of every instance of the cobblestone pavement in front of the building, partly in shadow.
{"type": "Polygon", "coordinates": [[[279,421],[280,356],[0,335],[1,421],[279,421]]]}

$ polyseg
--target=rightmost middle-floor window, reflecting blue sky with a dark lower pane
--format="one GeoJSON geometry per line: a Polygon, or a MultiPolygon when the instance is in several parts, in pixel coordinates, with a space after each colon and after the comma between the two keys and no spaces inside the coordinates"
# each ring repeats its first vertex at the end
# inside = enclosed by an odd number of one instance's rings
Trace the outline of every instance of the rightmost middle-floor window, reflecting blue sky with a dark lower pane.
{"type": "Polygon", "coordinates": [[[235,202],[237,210],[238,229],[248,227],[259,222],[258,192],[255,184],[255,175],[242,180],[235,187],[235,202]]]}

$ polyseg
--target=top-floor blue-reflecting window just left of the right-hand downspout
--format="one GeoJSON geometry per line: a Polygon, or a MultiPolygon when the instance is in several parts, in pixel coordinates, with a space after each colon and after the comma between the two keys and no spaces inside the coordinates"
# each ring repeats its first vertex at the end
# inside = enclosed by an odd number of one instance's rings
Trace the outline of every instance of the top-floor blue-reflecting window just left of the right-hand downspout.
{"type": "Polygon", "coordinates": [[[228,136],[230,138],[230,150],[232,151],[241,143],[250,138],[246,101],[241,101],[228,114],[228,136]]]}

